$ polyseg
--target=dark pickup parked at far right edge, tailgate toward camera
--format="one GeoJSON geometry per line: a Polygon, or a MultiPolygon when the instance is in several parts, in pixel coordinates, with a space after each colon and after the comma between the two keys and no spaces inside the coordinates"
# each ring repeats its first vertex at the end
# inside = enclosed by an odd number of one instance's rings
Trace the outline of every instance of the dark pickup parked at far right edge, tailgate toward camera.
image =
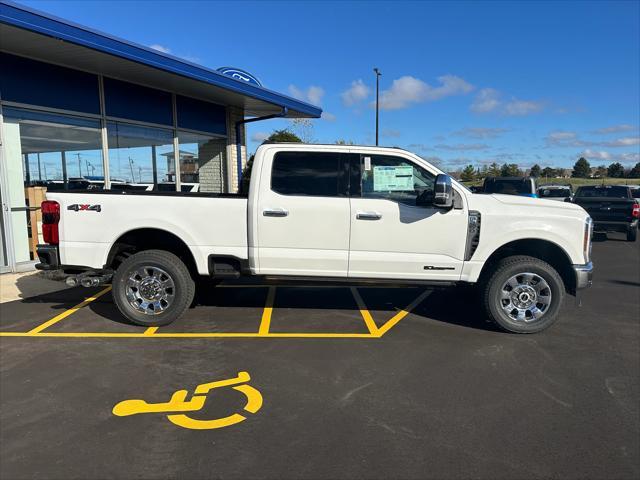
{"type": "Polygon", "coordinates": [[[627,240],[636,241],[640,203],[626,185],[594,185],[580,187],[573,203],[584,208],[594,223],[595,231],[623,232],[627,240]]]}

